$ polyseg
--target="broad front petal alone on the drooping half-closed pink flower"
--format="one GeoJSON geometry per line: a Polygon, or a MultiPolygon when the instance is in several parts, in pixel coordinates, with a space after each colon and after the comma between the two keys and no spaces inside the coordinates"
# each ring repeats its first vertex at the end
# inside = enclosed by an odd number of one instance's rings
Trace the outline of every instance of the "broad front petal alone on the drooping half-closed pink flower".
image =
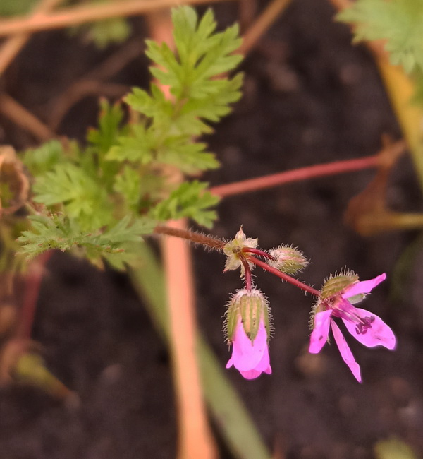
{"type": "Polygon", "coordinates": [[[264,353],[267,352],[269,357],[269,348],[267,346],[267,331],[264,321],[260,321],[259,331],[254,342],[245,334],[241,321],[238,322],[233,339],[231,362],[236,369],[240,371],[249,371],[255,369],[257,364],[262,360],[264,353]]]}

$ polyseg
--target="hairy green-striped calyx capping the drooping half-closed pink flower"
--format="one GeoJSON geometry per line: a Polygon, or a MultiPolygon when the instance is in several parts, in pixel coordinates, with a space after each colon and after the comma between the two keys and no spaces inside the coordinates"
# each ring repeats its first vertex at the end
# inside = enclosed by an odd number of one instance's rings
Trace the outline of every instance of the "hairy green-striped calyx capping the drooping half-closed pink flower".
{"type": "Polygon", "coordinates": [[[263,321],[267,335],[271,331],[271,315],[269,302],[259,289],[237,290],[228,302],[224,330],[229,342],[233,342],[235,329],[242,323],[245,335],[254,342],[259,331],[260,322],[263,321]]]}

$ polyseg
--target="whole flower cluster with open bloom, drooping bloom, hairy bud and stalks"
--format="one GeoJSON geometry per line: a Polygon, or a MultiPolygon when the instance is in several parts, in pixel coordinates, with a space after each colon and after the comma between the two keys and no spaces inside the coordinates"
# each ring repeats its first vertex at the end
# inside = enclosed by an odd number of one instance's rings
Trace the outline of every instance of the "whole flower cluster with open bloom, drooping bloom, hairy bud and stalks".
{"type": "Polygon", "coordinates": [[[308,264],[302,251],[292,246],[263,251],[257,249],[257,245],[257,239],[247,238],[241,227],[235,239],[223,248],[227,256],[225,270],[240,268],[241,278],[245,279],[245,288],[233,294],[226,311],[225,331],[228,343],[232,345],[232,355],[226,368],[235,366],[246,379],[257,378],[262,373],[271,374],[271,315],[266,297],[252,285],[251,270],[255,265],[317,297],[312,309],[311,354],[321,351],[329,340],[331,329],[341,357],[357,381],[362,382],[360,366],[355,362],[336,318],[341,318],[348,332],[364,346],[395,349],[396,338],[391,328],[376,314],[354,306],[383,282],[386,274],[360,282],[355,273],[341,272],[326,280],[321,291],[314,290],[291,277],[308,264]]]}

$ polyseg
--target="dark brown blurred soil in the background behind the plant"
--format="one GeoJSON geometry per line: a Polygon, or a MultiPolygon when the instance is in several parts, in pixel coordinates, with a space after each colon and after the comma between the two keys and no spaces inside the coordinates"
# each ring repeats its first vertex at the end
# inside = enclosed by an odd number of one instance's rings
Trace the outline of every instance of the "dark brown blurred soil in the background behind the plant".
{"type": "MultiPolygon", "coordinates": [[[[233,5],[216,10],[224,24],[235,19],[233,5]]],[[[208,174],[212,184],[362,157],[379,150],[382,133],[400,137],[371,56],[364,47],[352,47],[348,28],[332,18],[326,2],[297,0],[250,54],[243,65],[245,97],[208,139],[223,165],[208,174]]],[[[107,55],[63,32],[40,34],[8,71],[5,87],[48,119],[47,102],[107,55]]],[[[116,81],[140,85],[146,76],[138,62],[116,81]]],[[[60,133],[82,136],[95,123],[96,103],[90,98],[73,107],[60,133]]],[[[33,142],[6,119],[0,126],[1,143],[20,149],[33,142]]],[[[343,222],[348,201],[373,174],[290,184],[227,198],[219,206],[216,235],[231,237],[243,224],[264,248],[299,246],[312,260],[302,279],[317,288],[344,266],[362,279],[388,274],[364,307],[393,328],[398,347],[370,350],[348,339],[362,367],[360,385],[335,345],[318,356],[307,353],[310,297],[257,270],[257,285],[274,316],[273,374],[245,381],[231,369],[228,376],[266,442],[287,458],[372,458],[374,444],[393,436],[423,453],[421,251],[400,283],[400,296],[389,299],[398,257],[417,234],[365,239],[343,222]]],[[[410,160],[398,165],[388,197],[398,210],[422,210],[410,160]]],[[[236,273],[221,273],[223,262],[219,254],[195,251],[200,327],[222,366],[228,349],[221,316],[229,294],[240,287],[236,273]]],[[[44,348],[51,372],[80,402],[63,403],[35,388],[2,388],[1,457],[173,458],[168,354],[130,282],[63,254],[48,267],[33,338],[44,348]]]]}

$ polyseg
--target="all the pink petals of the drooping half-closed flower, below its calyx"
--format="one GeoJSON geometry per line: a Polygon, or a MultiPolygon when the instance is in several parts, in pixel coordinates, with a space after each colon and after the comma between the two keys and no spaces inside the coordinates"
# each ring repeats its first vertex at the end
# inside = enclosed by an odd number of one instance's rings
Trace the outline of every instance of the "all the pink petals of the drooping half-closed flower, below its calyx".
{"type": "Polygon", "coordinates": [[[258,378],[263,371],[271,374],[267,330],[263,318],[260,320],[254,341],[247,337],[241,318],[239,318],[232,342],[232,357],[226,364],[226,368],[235,366],[245,379],[258,378]]]}

